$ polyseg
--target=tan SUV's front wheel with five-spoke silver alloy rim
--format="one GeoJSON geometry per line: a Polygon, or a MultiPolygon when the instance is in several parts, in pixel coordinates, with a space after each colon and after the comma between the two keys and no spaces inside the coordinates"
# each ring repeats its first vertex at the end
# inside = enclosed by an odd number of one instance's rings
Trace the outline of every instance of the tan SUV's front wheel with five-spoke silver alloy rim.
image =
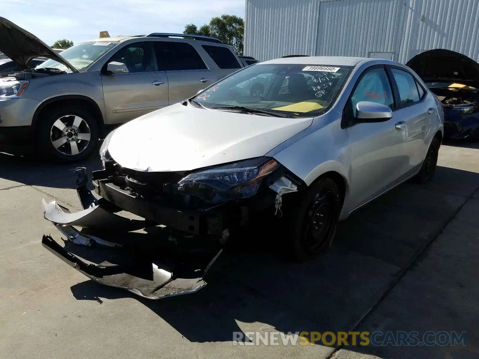
{"type": "Polygon", "coordinates": [[[98,144],[98,122],[80,105],[57,106],[38,124],[39,152],[47,159],[70,163],[91,155],[98,144]]]}

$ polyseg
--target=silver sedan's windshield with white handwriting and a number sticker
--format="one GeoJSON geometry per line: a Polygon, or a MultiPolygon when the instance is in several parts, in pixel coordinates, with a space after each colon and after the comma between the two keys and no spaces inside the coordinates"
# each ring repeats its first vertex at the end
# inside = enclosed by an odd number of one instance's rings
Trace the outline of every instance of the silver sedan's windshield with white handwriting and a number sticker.
{"type": "Polygon", "coordinates": [[[219,81],[194,100],[206,108],[242,106],[313,117],[329,109],[350,69],[334,65],[256,64],[219,81]]]}

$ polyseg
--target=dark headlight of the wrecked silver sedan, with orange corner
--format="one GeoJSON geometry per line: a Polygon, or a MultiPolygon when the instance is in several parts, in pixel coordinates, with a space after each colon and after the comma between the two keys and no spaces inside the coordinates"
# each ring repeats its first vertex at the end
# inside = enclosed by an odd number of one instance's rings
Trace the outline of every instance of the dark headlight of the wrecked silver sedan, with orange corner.
{"type": "Polygon", "coordinates": [[[278,167],[273,158],[247,159],[190,173],[178,182],[177,190],[205,202],[251,197],[258,191],[261,180],[278,167]]]}

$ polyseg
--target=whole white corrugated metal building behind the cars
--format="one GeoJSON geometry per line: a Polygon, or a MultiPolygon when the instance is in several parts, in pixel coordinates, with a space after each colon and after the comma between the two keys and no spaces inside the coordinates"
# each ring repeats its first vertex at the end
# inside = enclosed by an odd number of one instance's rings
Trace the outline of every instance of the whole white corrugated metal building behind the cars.
{"type": "Polygon", "coordinates": [[[381,57],[436,48],[479,61],[479,0],[246,0],[244,54],[381,57]]]}

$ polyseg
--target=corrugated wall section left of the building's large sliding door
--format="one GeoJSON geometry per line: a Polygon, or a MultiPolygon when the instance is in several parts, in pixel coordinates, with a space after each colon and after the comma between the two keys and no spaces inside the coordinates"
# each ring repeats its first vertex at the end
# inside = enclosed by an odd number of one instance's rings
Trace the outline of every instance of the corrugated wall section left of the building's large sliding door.
{"type": "Polygon", "coordinates": [[[314,56],[318,15],[318,0],[246,0],[244,54],[314,56]]]}

